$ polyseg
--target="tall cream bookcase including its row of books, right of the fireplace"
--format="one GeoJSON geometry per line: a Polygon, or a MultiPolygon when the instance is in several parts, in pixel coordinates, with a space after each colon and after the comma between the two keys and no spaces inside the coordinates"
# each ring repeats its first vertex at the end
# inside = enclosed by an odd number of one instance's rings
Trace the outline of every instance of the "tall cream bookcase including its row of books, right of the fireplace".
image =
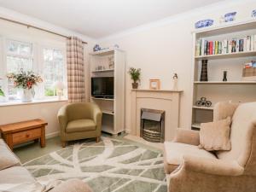
{"type": "Polygon", "coordinates": [[[256,102],[256,81],[249,80],[253,79],[254,69],[247,73],[244,70],[245,64],[253,67],[253,64],[248,63],[256,61],[256,20],[237,20],[195,30],[193,42],[191,128],[199,130],[201,122],[213,120],[214,108],[213,105],[211,108],[195,106],[195,102],[201,97],[206,97],[207,101],[212,103],[256,102]],[[241,51],[232,53],[237,49],[241,51]],[[216,51],[223,54],[198,55],[214,54],[216,51]],[[207,60],[207,82],[199,81],[202,60],[207,60]],[[221,81],[224,71],[228,74],[226,82],[221,81]],[[248,79],[248,81],[241,79],[248,79]]]}

